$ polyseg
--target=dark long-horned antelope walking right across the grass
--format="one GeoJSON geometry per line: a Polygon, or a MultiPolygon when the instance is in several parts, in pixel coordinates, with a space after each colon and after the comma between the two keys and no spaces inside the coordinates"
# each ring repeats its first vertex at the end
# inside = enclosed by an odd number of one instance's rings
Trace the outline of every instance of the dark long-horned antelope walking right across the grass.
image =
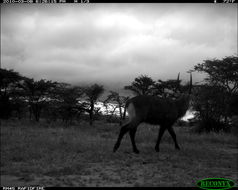
{"type": "MultiPolygon", "coordinates": [[[[178,75],[179,84],[179,75],[178,75]]],[[[135,144],[135,134],[140,123],[145,122],[153,125],[160,125],[156,152],[159,152],[160,140],[167,129],[174,140],[175,148],[180,149],[176,140],[176,134],[172,128],[173,124],[186,113],[189,107],[189,99],[192,88],[192,75],[190,73],[190,83],[188,93],[176,93],[176,99],[160,98],[157,96],[140,95],[129,99],[125,109],[129,115],[129,122],[121,127],[118,139],[114,145],[113,152],[116,152],[121,144],[123,136],[129,131],[134,153],[139,153],[135,144]]]]}

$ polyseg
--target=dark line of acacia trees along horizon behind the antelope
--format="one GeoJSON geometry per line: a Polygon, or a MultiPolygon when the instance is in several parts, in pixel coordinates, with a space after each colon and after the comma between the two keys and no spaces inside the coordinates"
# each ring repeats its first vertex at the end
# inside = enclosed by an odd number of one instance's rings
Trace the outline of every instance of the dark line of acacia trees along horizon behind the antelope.
{"type": "MultiPolygon", "coordinates": [[[[204,60],[189,72],[202,72],[206,78],[193,84],[191,109],[196,111],[194,120],[199,131],[224,131],[235,125],[233,118],[238,115],[238,57],[204,60]]],[[[176,98],[177,91],[183,93],[189,84],[182,85],[181,80],[154,81],[147,75],[141,75],[124,88],[135,95],[152,95],[161,98],[176,98]]],[[[67,83],[41,79],[36,81],[22,76],[16,71],[0,69],[0,118],[29,118],[48,122],[62,120],[70,123],[77,119],[86,119],[93,124],[95,119],[105,118],[95,103],[104,93],[100,84],[72,86],[67,83]]],[[[108,122],[122,123],[122,108],[129,97],[110,91],[103,101],[106,109],[108,102],[115,103],[115,108],[108,110],[108,122]],[[119,117],[115,110],[119,109],[119,117]],[[116,118],[116,119],[115,119],[116,118]]]]}

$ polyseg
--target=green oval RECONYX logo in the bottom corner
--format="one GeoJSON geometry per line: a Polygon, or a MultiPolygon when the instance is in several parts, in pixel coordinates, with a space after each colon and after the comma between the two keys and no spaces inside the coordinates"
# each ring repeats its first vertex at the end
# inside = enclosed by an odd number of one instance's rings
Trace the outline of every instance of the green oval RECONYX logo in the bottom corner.
{"type": "Polygon", "coordinates": [[[225,178],[206,178],[197,182],[198,187],[202,189],[230,189],[235,183],[225,178]]]}

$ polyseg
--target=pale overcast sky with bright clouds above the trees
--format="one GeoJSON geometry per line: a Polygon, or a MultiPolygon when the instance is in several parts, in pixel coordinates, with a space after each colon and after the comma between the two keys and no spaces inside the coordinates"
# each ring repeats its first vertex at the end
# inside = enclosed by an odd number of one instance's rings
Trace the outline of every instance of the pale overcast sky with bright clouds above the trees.
{"type": "MultiPolygon", "coordinates": [[[[237,53],[237,4],[1,4],[1,67],[117,89],[237,53]]],[[[194,80],[200,80],[194,74],[194,80]]]]}

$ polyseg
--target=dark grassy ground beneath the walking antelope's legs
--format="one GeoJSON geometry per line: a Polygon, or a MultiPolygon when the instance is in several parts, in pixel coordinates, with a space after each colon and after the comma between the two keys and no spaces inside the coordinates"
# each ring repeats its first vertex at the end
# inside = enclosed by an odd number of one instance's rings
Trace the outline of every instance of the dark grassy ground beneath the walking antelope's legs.
{"type": "Polygon", "coordinates": [[[208,177],[238,182],[235,134],[193,134],[175,127],[181,150],[166,132],[160,152],[154,151],[158,127],[141,124],[132,153],[129,135],[112,153],[120,127],[86,122],[2,121],[1,186],[196,186],[208,177]]]}

